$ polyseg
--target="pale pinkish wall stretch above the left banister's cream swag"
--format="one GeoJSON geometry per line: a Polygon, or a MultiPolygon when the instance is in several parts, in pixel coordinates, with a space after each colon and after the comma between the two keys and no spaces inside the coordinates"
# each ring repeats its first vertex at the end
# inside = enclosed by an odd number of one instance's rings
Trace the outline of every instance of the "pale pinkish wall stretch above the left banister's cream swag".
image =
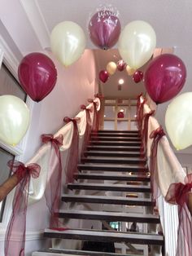
{"type": "Polygon", "coordinates": [[[63,117],[75,117],[81,111],[81,104],[88,104],[87,99],[94,97],[97,85],[91,50],[85,50],[81,59],[68,68],[54,61],[59,74],[58,82],[50,95],[33,104],[24,161],[33,157],[41,145],[41,134],[55,133],[64,125],[63,117]]]}

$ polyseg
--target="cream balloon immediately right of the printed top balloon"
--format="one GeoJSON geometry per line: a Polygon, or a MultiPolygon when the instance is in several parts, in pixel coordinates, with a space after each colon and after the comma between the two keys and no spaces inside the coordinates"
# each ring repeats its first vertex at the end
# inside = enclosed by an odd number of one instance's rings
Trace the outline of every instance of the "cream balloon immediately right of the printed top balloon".
{"type": "Polygon", "coordinates": [[[155,30],[145,21],[134,20],[120,33],[118,49],[123,60],[137,69],[150,60],[156,46],[155,30]]]}

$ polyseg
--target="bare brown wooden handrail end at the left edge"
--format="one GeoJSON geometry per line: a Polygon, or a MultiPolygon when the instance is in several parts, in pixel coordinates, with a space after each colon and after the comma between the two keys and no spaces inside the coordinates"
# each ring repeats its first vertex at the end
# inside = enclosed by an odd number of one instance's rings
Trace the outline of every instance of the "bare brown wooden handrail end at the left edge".
{"type": "Polygon", "coordinates": [[[0,201],[3,201],[13,188],[20,182],[18,176],[13,174],[0,186],[0,201]]]}

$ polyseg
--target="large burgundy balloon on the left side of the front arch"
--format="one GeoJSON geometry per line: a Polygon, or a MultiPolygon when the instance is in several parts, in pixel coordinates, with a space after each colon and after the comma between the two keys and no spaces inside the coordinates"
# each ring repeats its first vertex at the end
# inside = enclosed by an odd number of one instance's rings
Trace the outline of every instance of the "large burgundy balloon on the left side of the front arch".
{"type": "Polygon", "coordinates": [[[57,70],[49,57],[39,52],[33,52],[21,60],[18,76],[24,91],[31,99],[39,102],[54,89],[57,70]]]}

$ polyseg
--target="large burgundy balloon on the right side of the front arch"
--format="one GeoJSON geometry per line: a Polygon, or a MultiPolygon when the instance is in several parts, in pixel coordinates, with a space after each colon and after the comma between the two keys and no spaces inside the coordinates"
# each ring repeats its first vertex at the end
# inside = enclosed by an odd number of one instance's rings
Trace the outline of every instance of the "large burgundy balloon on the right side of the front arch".
{"type": "Polygon", "coordinates": [[[180,92],[185,77],[185,64],[180,58],[172,54],[160,55],[146,68],[146,91],[156,104],[164,103],[180,92]]]}

